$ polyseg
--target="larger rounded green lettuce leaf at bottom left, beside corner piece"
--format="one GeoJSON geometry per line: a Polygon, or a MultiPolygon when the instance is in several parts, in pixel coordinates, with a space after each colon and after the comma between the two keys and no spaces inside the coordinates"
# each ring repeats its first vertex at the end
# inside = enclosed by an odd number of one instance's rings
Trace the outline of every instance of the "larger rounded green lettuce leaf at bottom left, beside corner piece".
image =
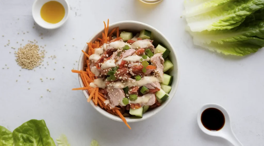
{"type": "Polygon", "coordinates": [[[13,131],[15,146],[55,146],[44,120],[30,120],[13,131]]]}

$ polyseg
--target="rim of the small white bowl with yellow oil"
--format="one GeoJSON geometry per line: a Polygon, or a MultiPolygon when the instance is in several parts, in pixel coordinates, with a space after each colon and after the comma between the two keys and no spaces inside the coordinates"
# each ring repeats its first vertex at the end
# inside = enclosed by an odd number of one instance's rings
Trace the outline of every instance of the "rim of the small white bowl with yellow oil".
{"type": "MultiPolygon", "coordinates": [[[[66,15],[66,18],[63,20],[63,22],[60,24],[60,25],[57,25],[57,26],[55,26],[55,25],[52,25],[53,27],[46,27],[45,25],[42,25],[41,23],[39,23],[38,21],[36,21],[36,18],[35,18],[35,15],[34,15],[34,9],[35,9],[35,7],[36,7],[36,3],[38,2],[38,1],[41,1],[41,0],[35,0],[34,1],[34,3],[33,3],[33,5],[32,5],[32,9],[31,9],[31,11],[32,11],[32,17],[33,17],[33,19],[34,19],[34,21],[37,23],[37,25],[39,25],[40,27],[42,27],[42,28],[44,28],[44,29],[56,29],[56,28],[59,28],[59,27],[61,27],[67,20],[68,20],[68,18],[69,18],[69,11],[70,11],[70,5],[69,5],[69,3],[68,3],[68,1],[67,0],[63,0],[63,1],[65,1],[65,3],[66,3],[66,5],[67,5],[67,14],[65,13],[65,15],[66,15]]],[[[57,0],[50,0],[50,1],[57,1],[57,0]]],[[[64,9],[66,9],[66,8],[64,8],[64,9]]],[[[62,21],[61,20],[61,21],[62,21]]],[[[59,23],[59,22],[58,22],[59,23]]],[[[57,23],[55,23],[55,24],[57,24],[57,23]]]]}

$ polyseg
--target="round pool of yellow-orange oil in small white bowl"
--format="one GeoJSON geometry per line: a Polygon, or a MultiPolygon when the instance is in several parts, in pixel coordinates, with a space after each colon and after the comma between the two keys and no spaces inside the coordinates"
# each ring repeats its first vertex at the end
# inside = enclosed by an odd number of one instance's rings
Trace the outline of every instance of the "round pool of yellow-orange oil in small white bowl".
{"type": "Polygon", "coordinates": [[[46,2],[40,9],[40,16],[48,23],[58,23],[65,16],[63,5],[57,1],[46,2]]]}

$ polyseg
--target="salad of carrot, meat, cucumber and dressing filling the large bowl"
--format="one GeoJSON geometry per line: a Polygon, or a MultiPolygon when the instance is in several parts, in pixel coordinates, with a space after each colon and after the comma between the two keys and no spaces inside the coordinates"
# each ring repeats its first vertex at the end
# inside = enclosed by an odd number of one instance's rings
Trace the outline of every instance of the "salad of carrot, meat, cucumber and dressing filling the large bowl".
{"type": "Polygon", "coordinates": [[[83,87],[73,90],[86,90],[88,102],[120,116],[130,128],[126,117],[144,117],[161,106],[172,90],[173,76],[167,74],[174,69],[171,51],[161,43],[154,46],[153,38],[147,29],[116,27],[110,32],[108,21],[101,37],[82,50],[83,69],[72,72],[79,73],[83,87]]]}

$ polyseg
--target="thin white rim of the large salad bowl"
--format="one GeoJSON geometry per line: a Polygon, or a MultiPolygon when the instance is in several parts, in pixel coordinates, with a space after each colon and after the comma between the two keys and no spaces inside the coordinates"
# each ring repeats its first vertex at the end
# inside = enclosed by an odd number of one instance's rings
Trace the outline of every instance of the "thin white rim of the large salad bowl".
{"type": "MultiPolygon", "coordinates": [[[[176,93],[176,91],[177,91],[177,88],[178,88],[179,79],[180,79],[180,70],[179,70],[178,57],[177,57],[177,54],[176,54],[176,52],[175,52],[175,50],[174,50],[174,48],[173,48],[171,42],[170,42],[170,41],[169,41],[169,40],[168,40],[168,39],[167,39],[167,38],[166,38],[166,37],[165,37],[165,36],[159,31],[159,30],[155,29],[153,26],[150,26],[150,25],[148,25],[148,24],[145,24],[145,23],[142,23],[142,22],[139,22],[139,21],[131,21],[131,20],[129,20],[129,21],[118,21],[118,22],[115,22],[115,23],[110,24],[110,25],[109,25],[109,28],[110,28],[111,26],[118,25],[118,24],[119,24],[119,25],[122,25],[122,24],[124,24],[124,23],[134,23],[134,24],[137,24],[137,25],[144,25],[144,26],[146,26],[146,27],[148,27],[148,28],[154,29],[159,35],[161,35],[161,37],[163,37],[163,38],[168,42],[168,44],[169,44],[169,46],[170,46],[170,48],[171,48],[170,51],[173,52],[173,55],[175,56],[175,59],[176,59],[176,65],[177,65],[177,68],[174,68],[174,69],[177,69],[177,71],[178,71],[178,73],[177,73],[177,75],[176,75],[177,80],[176,80],[176,83],[175,83],[175,88],[174,88],[174,90],[173,90],[173,93],[170,93],[170,96],[172,96],[172,98],[173,98],[174,95],[175,95],[175,93],[176,93]]],[[[90,39],[89,39],[87,42],[90,42],[90,41],[92,41],[93,39],[95,39],[95,37],[96,37],[99,33],[101,33],[103,30],[104,30],[104,28],[101,29],[100,31],[98,31],[97,33],[95,33],[94,35],[92,35],[92,37],[90,37],[90,39]]],[[[84,48],[83,48],[83,51],[86,52],[86,50],[87,50],[87,46],[88,46],[88,45],[87,45],[87,43],[86,43],[86,45],[85,45],[84,48]]],[[[81,70],[81,69],[82,69],[81,64],[82,64],[82,62],[83,62],[83,57],[84,57],[84,54],[81,53],[80,58],[79,58],[79,62],[78,62],[78,70],[81,70]]],[[[80,74],[78,74],[78,79],[79,79],[79,84],[80,84],[80,86],[83,87],[83,82],[82,82],[82,78],[81,78],[81,75],[80,75],[80,74]]],[[[82,92],[83,92],[83,94],[84,94],[84,96],[85,96],[86,98],[89,97],[89,93],[88,93],[86,90],[82,90],[82,92]]],[[[142,118],[129,118],[129,117],[125,117],[125,119],[126,119],[126,121],[127,121],[128,123],[129,123],[129,122],[139,122],[139,121],[146,120],[146,119],[152,117],[153,115],[155,115],[156,113],[158,113],[159,111],[161,111],[165,106],[167,106],[168,103],[172,100],[172,98],[168,98],[168,99],[166,100],[166,102],[164,102],[161,106],[155,108],[155,110],[152,110],[152,113],[150,113],[148,116],[143,116],[142,118]]],[[[93,107],[96,111],[98,111],[99,113],[101,113],[103,116],[105,116],[105,117],[107,117],[107,118],[110,118],[111,120],[114,120],[114,121],[123,122],[123,121],[121,120],[120,117],[118,117],[118,116],[116,116],[116,115],[112,115],[111,113],[109,113],[109,112],[107,112],[107,111],[101,109],[101,107],[95,106],[95,104],[94,104],[93,102],[90,102],[90,104],[92,105],[92,107],[93,107]]]]}

